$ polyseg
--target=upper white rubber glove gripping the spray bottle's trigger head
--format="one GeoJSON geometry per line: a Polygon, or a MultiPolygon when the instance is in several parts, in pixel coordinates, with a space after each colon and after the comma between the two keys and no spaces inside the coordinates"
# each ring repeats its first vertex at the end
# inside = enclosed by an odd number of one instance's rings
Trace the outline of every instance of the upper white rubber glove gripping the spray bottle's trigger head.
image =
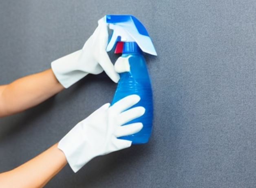
{"type": "Polygon", "coordinates": [[[88,73],[99,74],[103,71],[114,81],[118,82],[119,74],[106,52],[108,45],[108,24],[105,17],[98,21],[98,27],[86,41],[82,50],[73,52],[51,63],[53,72],[59,82],[68,88],[88,73]]]}

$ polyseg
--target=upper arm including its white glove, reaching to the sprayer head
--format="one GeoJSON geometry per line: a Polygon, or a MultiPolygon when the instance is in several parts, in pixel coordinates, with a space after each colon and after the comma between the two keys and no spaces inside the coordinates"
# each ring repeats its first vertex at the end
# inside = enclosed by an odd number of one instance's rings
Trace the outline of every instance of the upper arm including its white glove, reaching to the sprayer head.
{"type": "Polygon", "coordinates": [[[108,24],[104,18],[98,24],[82,50],[53,61],[52,69],[20,78],[11,84],[0,85],[0,117],[40,104],[88,73],[99,74],[105,71],[114,82],[118,82],[119,75],[106,52],[108,24]]]}

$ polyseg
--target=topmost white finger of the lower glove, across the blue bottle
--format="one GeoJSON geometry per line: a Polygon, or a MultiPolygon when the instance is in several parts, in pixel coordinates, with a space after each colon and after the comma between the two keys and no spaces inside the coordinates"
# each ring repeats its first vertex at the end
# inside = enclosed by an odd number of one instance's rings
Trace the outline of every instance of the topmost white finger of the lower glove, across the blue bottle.
{"type": "Polygon", "coordinates": [[[127,110],[128,108],[132,107],[133,105],[137,104],[140,101],[139,95],[128,95],[127,97],[124,97],[117,101],[113,106],[110,108],[117,113],[121,113],[124,110],[127,110]]]}

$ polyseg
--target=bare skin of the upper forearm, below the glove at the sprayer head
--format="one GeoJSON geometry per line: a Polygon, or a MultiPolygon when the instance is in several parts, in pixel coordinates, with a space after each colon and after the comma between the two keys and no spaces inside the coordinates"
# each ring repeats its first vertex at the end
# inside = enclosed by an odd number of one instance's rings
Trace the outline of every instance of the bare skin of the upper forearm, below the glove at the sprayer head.
{"type": "Polygon", "coordinates": [[[0,117],[40,104],[63,89],[64,87],[55,78],[52,69],[0,86],[0,117]]]}

